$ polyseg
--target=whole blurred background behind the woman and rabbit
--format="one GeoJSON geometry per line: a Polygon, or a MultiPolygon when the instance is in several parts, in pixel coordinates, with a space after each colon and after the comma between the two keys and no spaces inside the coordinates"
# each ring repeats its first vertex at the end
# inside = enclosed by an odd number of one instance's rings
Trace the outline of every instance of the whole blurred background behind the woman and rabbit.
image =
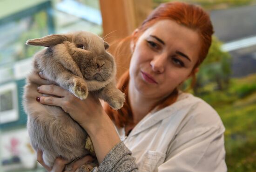
{"type": "MultiPolygon", "coordinates": [[[[84,30],[111,43],[168,1],[0,0],[0,172],[44,172],[29,144],[22,108],[25,77],[42,47],[25,45],[27,39],[84,30]]],[[[206,9],[215,28],[209,57],[188,91],[221,116],[229,171],[256,172],[256,0],[182,1],[206,9]]],[[[116,61],[119,77],[128,63],[116,61]]]]}

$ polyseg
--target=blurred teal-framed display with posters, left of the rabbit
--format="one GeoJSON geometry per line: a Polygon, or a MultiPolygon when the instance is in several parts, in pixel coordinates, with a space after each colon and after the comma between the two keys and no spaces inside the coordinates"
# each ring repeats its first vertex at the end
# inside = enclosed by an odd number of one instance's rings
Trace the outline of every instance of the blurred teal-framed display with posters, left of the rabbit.
{"type": "Polygon", "coordinates": [[[0,11],[0,172],[44,171],[29,144],[22,94],[41,49],[25,43],[54,33],[52,1],[1,0],[0,11]]]}

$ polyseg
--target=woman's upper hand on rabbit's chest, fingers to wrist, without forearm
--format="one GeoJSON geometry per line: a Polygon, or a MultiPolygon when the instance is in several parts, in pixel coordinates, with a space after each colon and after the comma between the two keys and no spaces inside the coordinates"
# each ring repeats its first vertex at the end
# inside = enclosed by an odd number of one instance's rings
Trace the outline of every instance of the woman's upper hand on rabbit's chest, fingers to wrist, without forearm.
{"type": "MultiPolygon", "coordinates": [[[[42,73],[40,77],[45,79],[42,73]]],[[[59,106],[77,121],[86,130],[89,130],[99,121],[102,115],[106,115],[98,98],[89,94],[85,100],[80,100],[71,92],[57,85],[41,85],[38,92],[49,96],[40,96],[36,100],[42,104],[59,106]]]]}

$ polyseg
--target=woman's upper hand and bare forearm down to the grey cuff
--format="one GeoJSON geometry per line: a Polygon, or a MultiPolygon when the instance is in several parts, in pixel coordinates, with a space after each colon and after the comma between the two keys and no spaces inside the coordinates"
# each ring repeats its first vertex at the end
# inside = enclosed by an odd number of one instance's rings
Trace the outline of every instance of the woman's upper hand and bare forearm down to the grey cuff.
{"type": "MultiPolygon", "coordinates": [[[[40,74],[40,77],[45,78],[43,74],[40,74]]],[[[41,85],[38,91],[49,95],[37,97],[38,102],[61,107],[86,130],[93,142],[99,163],[120,142],[115,126],[102,108],[101,102],[90,93],[85,100],[80,100],[57,85],[41,85]]]]}

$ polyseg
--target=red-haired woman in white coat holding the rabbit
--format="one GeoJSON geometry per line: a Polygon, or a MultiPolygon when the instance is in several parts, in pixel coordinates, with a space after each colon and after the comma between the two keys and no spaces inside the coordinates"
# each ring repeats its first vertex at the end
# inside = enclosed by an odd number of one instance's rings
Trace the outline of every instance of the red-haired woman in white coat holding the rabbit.
{"type": "MultiPolygon", "coordinates": [[[[118,84],[127,99],[121,110],[104,110],[94,97],[81,101],[55,85],[42,85],[39,92],[60,98],[37,100],[65,108],[87,131],[100,163],[94,171],[227,171],[220,117],[206,102],[178,90],[195,76],[212,34],[209,16],[200,7],[162,4],[128,38],[132,58],[118,84]]],[[[83,160],[75,167],[91,157],[83,160]]],[[[62,171],[67,163],[55,162],[48,171],[62,171]]]]}

